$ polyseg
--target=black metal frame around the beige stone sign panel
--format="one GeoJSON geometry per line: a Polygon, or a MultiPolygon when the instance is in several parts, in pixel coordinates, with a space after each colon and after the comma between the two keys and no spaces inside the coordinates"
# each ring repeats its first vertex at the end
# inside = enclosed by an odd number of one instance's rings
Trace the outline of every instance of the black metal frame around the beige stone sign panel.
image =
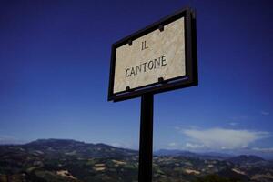
{"type": "Polygon", "coordinates": [[[197,27],[196,27],[196,13],[190,8],[185,8],[177,11],[172,15],[168,15],[152,25],[136,31],[132,35],[128,35],[125,38],[117,41],[112,45],[111,60],[110,60],[110,74],[109,74],[109,86],[108,86],[108,101],[114,102],[123,101],[126,99],[136,98],[145,94],[157,94],[175,90],[178,88],[197,86],[198,74],[197,74],[197,27]],[[157,83],[149,84],[146,86],[139,86],[133,89],[126,87],[125,91],[114,94],[114,80],[115,80],[115,66],[116,66],[116,49],[119,46],[132,44],[137,38],[147,35],[157,29],[164,31],[164,25],[172,23],[177,19],[184,17],[184,37],[185,37],[185,66],[186,75],[178,76],[168,80],[164,80],[162,77],[158,78],[157,83]]]}

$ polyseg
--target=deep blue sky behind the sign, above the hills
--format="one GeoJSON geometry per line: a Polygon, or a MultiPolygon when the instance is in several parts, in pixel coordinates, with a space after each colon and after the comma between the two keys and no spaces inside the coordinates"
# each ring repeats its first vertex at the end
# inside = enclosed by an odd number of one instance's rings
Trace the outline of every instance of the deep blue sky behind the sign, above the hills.
{"type": "Polygon", "coordinates": [[[138,148],[140,99],[107,102],[111,44],[190,5],[199,85],[155,96],[154,149],[273,153],[272,1],[1,1],[0,143],[138,148]]]}

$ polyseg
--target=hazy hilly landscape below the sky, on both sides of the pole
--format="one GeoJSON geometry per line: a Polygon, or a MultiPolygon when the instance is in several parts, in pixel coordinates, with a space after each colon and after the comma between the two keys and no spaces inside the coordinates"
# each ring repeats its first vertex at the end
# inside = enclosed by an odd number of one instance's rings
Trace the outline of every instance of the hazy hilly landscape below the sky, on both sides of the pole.
{"type": "MultiPolygon", "coordinates": [[[[0,182],[137,181],[138,152],[105,144],[41,139],[0,146],[0,182]]],[[[155,152],[153,181],[273,180],[273,162],[257,156],[155,152]]]]}

